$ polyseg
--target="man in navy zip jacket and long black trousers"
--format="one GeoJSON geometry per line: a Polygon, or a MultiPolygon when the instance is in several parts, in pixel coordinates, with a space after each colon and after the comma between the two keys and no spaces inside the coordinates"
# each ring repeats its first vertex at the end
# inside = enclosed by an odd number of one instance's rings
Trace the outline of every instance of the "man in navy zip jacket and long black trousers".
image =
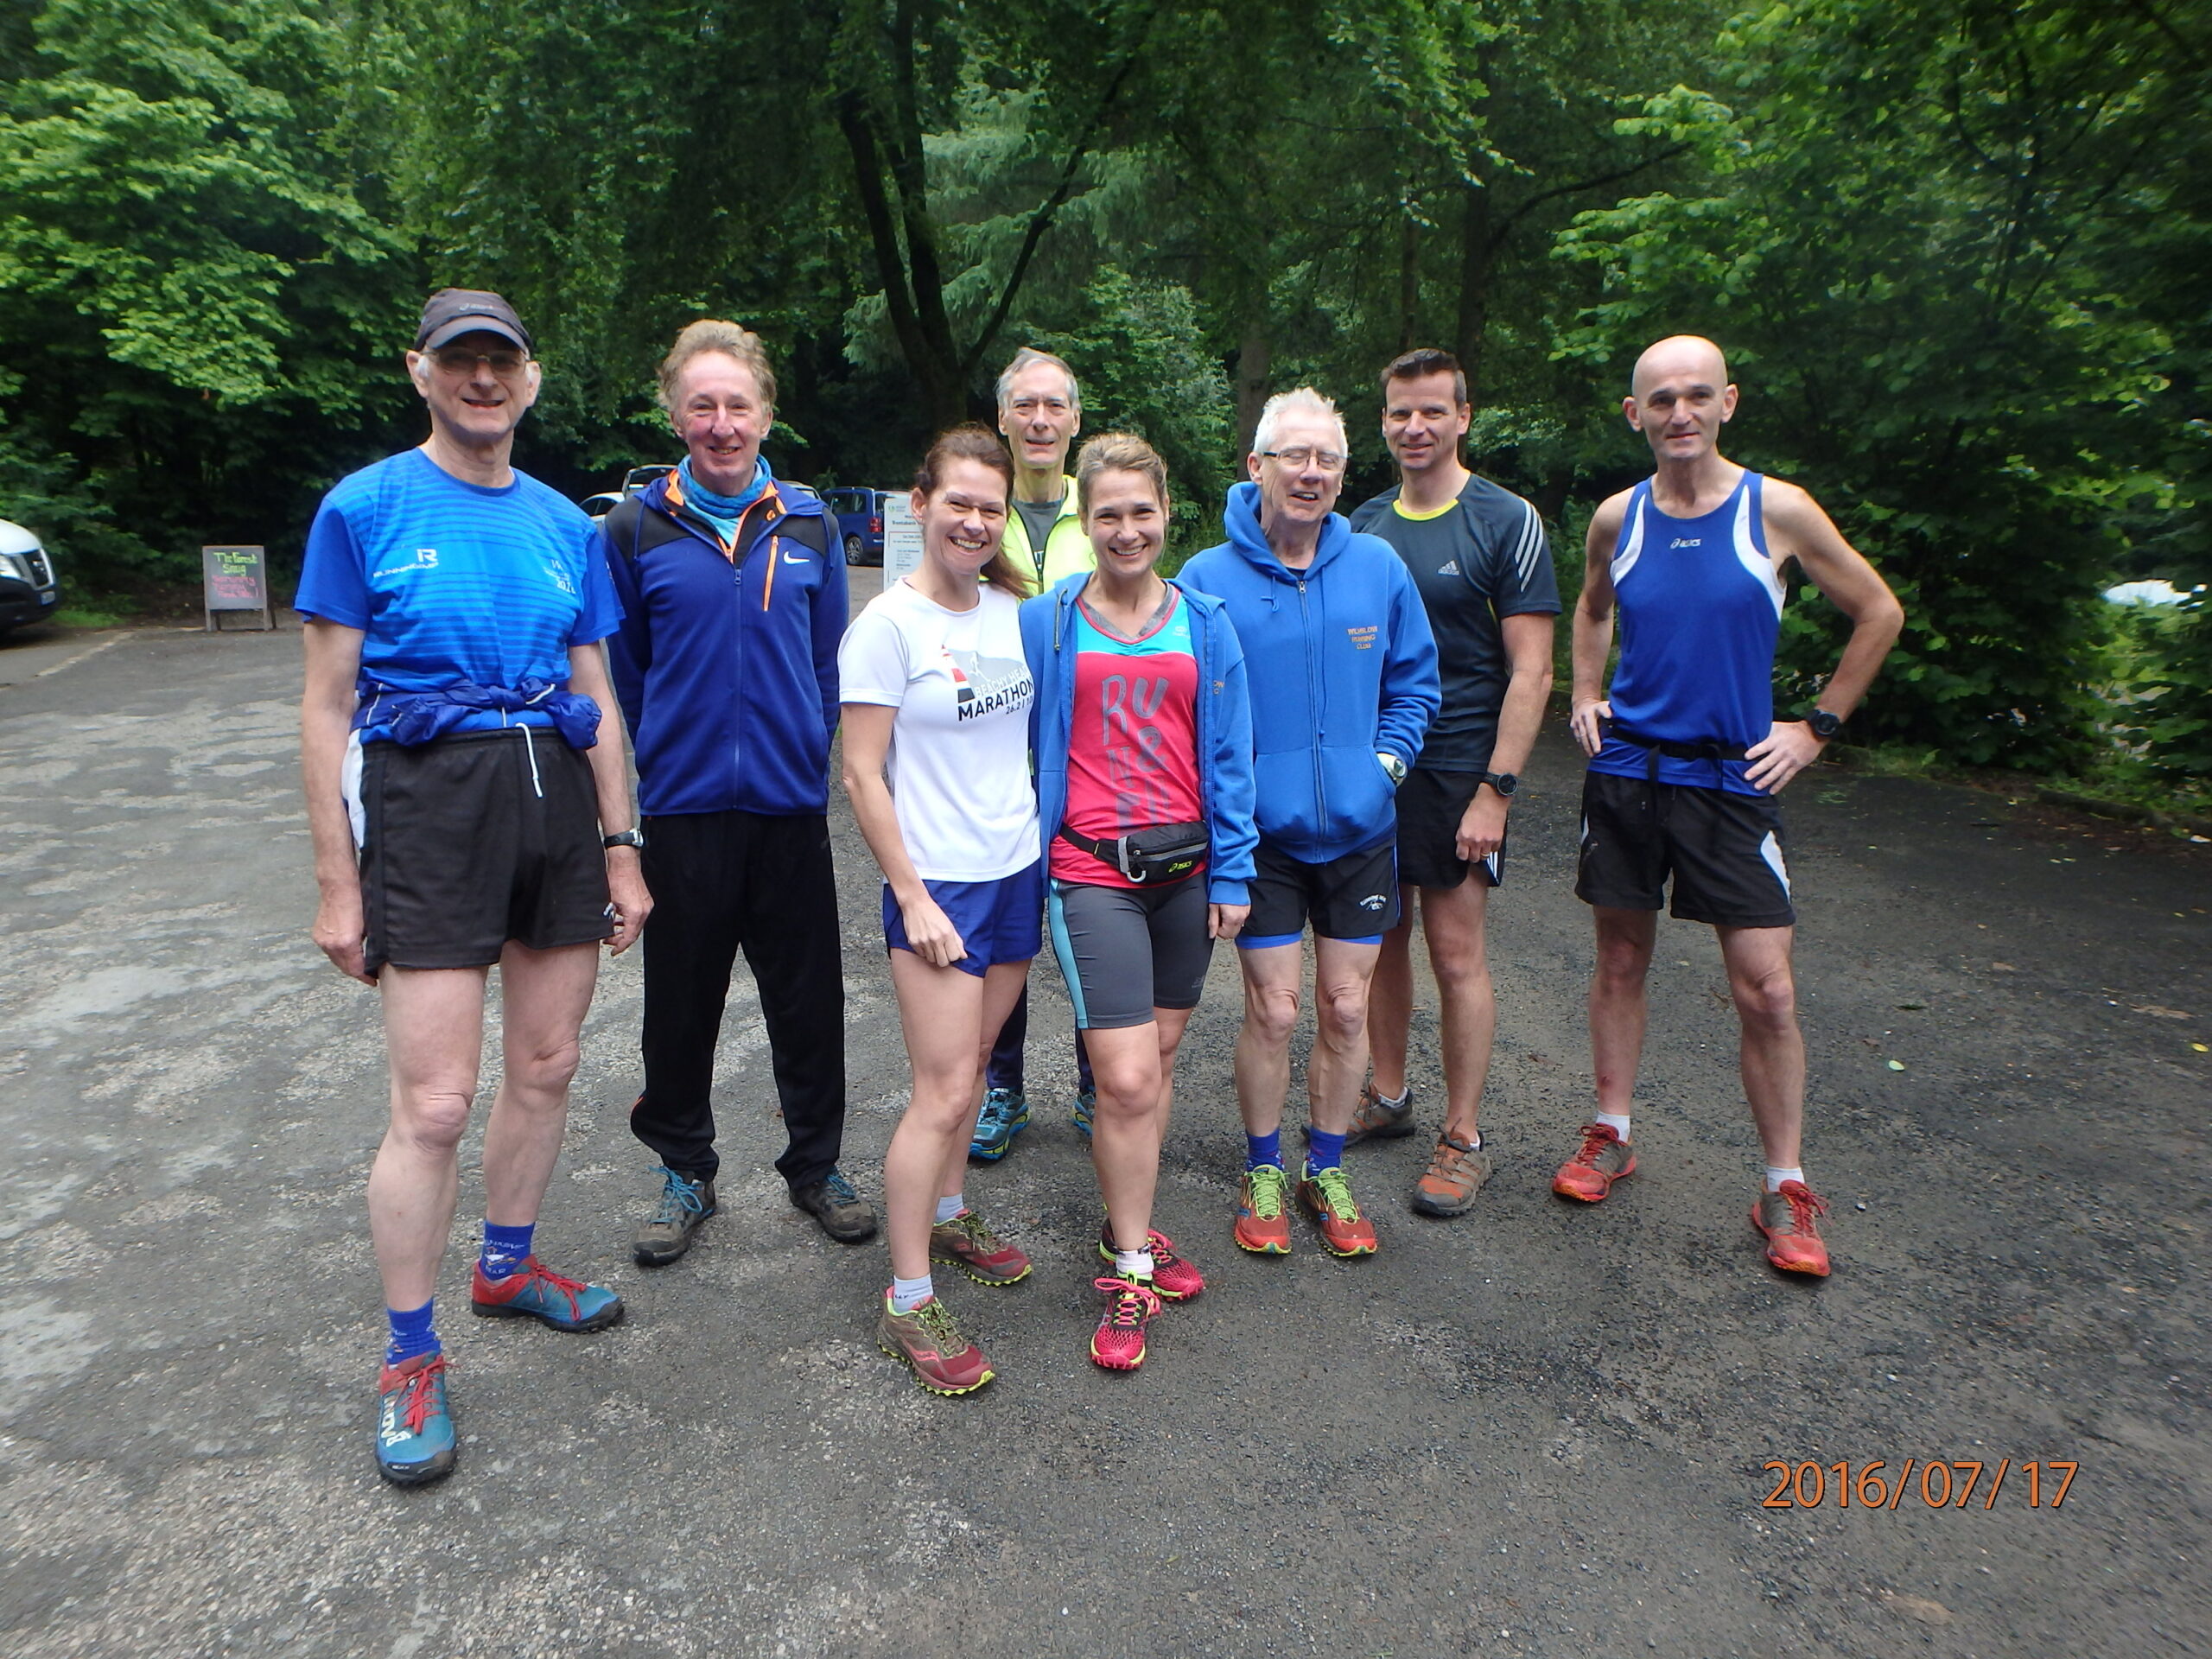
{"type": "Polygon", "coordinates": [[[845,967],[830,863],[830,734],[845,562],[821,498],[774,478],[776,418],[761,338],[699,321],[661,363],[684,462],[599,526],[622,595],[606,641],[637,748],[646,883],[677,902],[646,925],[646,1086],[630,1133],[659,1157],[661,1197],[633,1241],[675,1261],[714,1214],[714,1044],[745,951],[790,1137],[794,1206],[841,1243],[876,1212],[838,1172],[845,1135],[845,967]]]}

